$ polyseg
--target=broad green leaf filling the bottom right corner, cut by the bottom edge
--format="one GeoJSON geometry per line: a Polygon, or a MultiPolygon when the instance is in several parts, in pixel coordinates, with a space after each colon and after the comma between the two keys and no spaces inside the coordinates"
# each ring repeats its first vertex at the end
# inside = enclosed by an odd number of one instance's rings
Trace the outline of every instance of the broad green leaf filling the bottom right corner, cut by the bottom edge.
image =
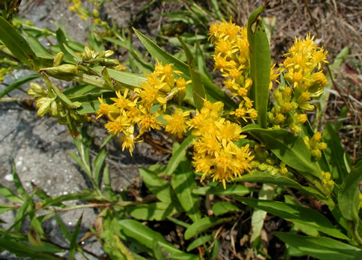
{"type": "Polygon", "coordinates": [[[359,248],[328,237],[306,237],[286,232],[274,232],[274,234],[293,248],[321,260],[348,260],[357,252],[361,252],[359,248]]]}

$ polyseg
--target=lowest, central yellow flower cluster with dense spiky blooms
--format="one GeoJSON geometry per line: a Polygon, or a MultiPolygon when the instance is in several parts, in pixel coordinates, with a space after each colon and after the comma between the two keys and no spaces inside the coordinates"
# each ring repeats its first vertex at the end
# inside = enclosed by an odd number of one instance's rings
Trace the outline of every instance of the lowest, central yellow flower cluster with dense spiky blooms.
{"type": "Polygon", "coordinates": [[[194,139],[194,166],[202,172],[201,181],[210,174],[212,181],[223,183],[240,177],[250,170],[253,156],[249,145],[239,147],[234,141],[244,138],[241,126],[221,117],[223,103],[204,101],[201,111],[192,119],[194,139]]]}

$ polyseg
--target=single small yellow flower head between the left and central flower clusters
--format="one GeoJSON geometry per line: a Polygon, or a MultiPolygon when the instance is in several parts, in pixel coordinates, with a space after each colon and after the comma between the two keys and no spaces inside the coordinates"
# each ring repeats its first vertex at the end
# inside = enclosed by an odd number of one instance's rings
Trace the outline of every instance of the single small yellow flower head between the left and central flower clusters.
{"type": "Polygon", "coordinates": [[[169,114],[163,115],[163,118],[167,121],[165,131],[170,132],[171,134],[177,135],[177,137],[181,138],[183,132],[188,128],[188,115],[190,111],[185,111],[181,108],[176,108],[174,110],[174,114],[170,116],[169,114]]]}

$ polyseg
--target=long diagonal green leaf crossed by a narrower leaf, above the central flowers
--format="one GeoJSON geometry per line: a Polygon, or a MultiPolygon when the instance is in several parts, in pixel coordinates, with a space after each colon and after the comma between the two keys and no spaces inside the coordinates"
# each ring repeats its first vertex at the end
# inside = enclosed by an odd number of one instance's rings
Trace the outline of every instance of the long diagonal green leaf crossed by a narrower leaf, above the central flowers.
{"type": "MultiPolygon", "coordinates": [[[[152,57],[158,59],[163,64],[173,63],[174,68],[180,70],[183,73],[183,77],[185,77],[186,79],[190,79],[190,71],[188,70],[188,66],[185,63],[159,48],[159,46],[157,46],[154,42],[148,39],[148,37],[146,37],[144,34],[141,34],[141,32],[137,31],[136,29],[133,30],[137,34],[137,37],[139,37],[139,40],[148,50],[148,52],[150,52],[152,57]]],[[[230,97],[228,97],[228,94],[221,91],[217,86],[215,86],[214,83],[212,83],[208,79],[208,77],[201,74],[201,79],[204,83],[206,97],[209,101],[223,101],[223,103],[225,104],[225,108],[237,108],[237,103],[230,99],[230,97]]]]}

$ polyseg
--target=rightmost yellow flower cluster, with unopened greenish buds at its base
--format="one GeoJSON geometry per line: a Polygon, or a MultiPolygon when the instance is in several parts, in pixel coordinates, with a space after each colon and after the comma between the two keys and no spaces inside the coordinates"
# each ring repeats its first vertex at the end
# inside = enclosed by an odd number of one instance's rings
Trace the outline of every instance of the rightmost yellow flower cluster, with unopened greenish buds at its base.
{"type": "Polygon", "coordinates": [[[295,39],[294,45],[284,55],[285,61],[280,64],[279,71],[289,86],[281,86],[275,90],[274,107],[268,112],[268,121],[272,128],[288,126],[292,132],[301,132],[300,123],[307,121],[303,110],[312,111],[314,106],[309,102],[312,97],[319,97],[323,87],[328,83],[321,68],[326,61],[327,51],[316,46],[310,34],[303,40],[295,39]]]}

